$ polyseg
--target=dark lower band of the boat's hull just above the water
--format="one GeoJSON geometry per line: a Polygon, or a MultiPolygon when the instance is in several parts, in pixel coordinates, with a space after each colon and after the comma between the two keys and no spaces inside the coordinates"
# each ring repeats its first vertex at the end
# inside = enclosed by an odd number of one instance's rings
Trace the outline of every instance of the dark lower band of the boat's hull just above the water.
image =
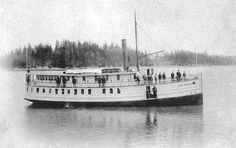
{"type": "MultiPolygon", "coordinates": [[[[41,100],[32,100],[27,99],[33,103],[34,106],[42,107],[64,107],[66,103],[63,101],[41,101],[41,100]]],[[[73,107],[85,106],[85,107],[94,107],[94,106],[103,106],[103,107],[148,107],[148,106],[183,106],[183,105],[202,105],[203,104],[203,95],[195,94],[182,97],[172,97],[164,99],[145,99],[138,101],[117,101],[117,102],[69,102],[73,107]]]]}

